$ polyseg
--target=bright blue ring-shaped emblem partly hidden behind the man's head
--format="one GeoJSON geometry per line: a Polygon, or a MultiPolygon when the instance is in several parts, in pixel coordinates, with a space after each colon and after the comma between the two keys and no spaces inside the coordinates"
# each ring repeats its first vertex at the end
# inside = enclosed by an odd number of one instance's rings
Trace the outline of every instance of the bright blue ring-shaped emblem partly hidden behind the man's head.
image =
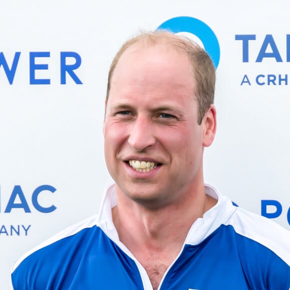
{"type": "Polygon", "coordinates": [[[220,56],[219,43],[214,32],[204,22],[189,16],[178,16],[166,20],[157,29],[166,29],[173,33],[189,32],[196,35],[211,57],[215,69],[217,68],[220,56]]]}

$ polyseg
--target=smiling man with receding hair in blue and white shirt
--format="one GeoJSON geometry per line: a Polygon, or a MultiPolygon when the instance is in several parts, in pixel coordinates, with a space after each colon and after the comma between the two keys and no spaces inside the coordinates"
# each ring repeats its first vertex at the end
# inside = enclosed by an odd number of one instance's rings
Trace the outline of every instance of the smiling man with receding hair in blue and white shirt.
{"type": "Polygon", "coordinates": [[[15,289],[289,289],[289,232],[204,185],[214,82],[186,38],[143,33],[121,47],[103,124],[115,184],[97,217],[14,264],[15,289]]]}

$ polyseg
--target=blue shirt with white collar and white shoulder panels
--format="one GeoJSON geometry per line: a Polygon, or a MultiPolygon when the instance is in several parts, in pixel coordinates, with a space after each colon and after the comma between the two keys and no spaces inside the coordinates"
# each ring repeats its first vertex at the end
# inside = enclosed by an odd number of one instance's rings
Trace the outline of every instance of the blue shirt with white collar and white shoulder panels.
{"type": "MultiPolygon", "coordinates": [[[[290,288],[290,231],[232,204],[210,185],[215,206],[191,226],[160,290],[290,288]]],[[[152,290],[149,277],[118,239],[111,208],[115,186],[100,212],[23,255],[12,267],[17,289],[152,290]]]]}

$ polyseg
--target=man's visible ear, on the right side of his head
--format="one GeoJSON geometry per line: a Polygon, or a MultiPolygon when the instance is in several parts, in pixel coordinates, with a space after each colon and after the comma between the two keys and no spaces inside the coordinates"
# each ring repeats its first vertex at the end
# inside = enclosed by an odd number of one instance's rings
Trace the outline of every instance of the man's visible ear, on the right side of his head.
{"type": "Polygon", "coordinates": [[[211,145],[216,131],[216,110],[213,104],[205,111],[201,125],[203,126],[202,144],[204,147],[208,147],[211,145]]]}

